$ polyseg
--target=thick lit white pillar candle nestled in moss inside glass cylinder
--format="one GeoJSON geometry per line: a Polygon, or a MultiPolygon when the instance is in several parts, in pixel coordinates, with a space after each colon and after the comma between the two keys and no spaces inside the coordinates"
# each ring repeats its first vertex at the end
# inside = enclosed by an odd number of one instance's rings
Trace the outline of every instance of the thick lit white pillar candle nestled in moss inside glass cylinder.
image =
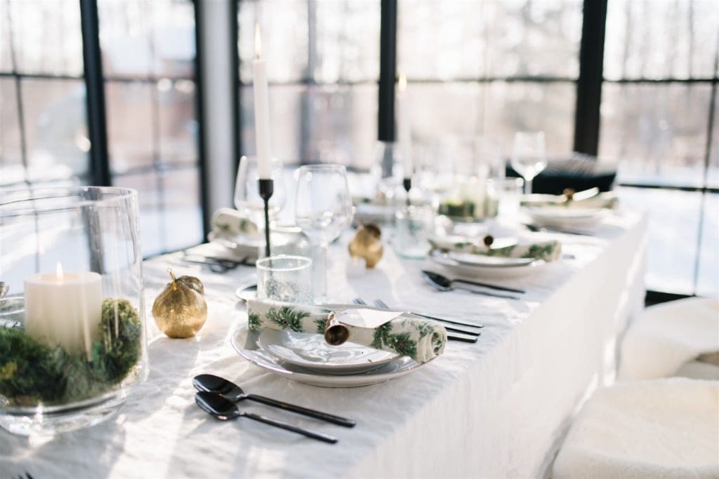
{"type": "Polygon", "coordinates": [[[25,279],[25,331],[68,353],[86,353],[99,336],[102,276],[90,271],[38,273],[25,279]]]}

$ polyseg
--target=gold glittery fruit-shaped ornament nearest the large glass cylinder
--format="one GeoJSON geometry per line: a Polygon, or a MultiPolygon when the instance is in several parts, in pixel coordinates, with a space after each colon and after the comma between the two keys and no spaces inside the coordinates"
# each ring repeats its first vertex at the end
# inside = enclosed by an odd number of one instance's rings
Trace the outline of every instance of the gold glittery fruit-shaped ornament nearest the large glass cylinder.
{"type": "Polygon", "coordinates": [[[155,298],[152,316],[162,332],[170,338],[190,338],[207,320],[207,303],[202,282],[195,276],[175,278],[168,268],[173,282],[155,298]]]}

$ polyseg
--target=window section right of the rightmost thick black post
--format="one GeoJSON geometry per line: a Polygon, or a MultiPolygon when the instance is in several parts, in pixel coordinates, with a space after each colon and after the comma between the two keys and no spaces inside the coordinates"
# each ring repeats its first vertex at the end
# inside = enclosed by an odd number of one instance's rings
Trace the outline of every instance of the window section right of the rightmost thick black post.
{"type": "Polygon", "coordinates": [[[719,294],[715,1],[609,0],[600,155],[649,210],[647,286],[719,294]]]}

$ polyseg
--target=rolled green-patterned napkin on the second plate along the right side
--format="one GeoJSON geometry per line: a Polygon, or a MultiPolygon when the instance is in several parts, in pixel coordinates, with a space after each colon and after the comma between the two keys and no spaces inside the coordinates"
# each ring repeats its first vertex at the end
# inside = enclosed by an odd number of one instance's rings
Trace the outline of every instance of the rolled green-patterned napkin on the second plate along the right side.
{"type": "MultiPolygon", "coordinates": [[[[454,238],[457,239],[457,238],[454,238]]],[[[562,244],[559,241],[520,241],[510,246],[500,248],[487,247],[482,239],[464,238],[462,241],[448,241],[443,238],[430,238],[433,248],[441,251],[455,251],[457,253],[481,254],[498,258],[534,258],[544,261],[554,261],[562,254],[562,244]]]]}

